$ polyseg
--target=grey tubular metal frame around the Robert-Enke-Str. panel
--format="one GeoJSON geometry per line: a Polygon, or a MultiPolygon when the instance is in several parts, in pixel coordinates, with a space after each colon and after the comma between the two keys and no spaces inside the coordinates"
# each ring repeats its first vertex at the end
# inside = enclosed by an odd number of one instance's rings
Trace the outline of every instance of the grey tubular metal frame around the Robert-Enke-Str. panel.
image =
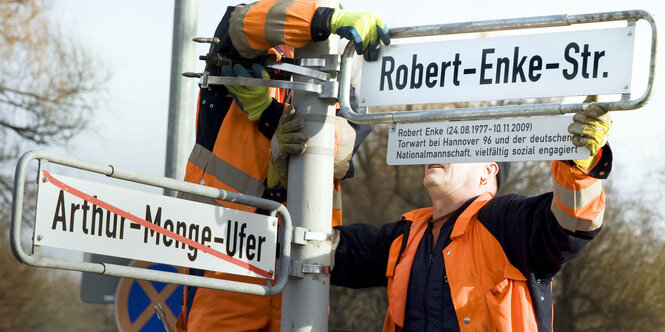
{"type": "MultiPolygon", "coordinates": [[[[450,35],[472,32],[533,29],[557,26],[569,26],[573,24],[610,22],[610,21],[632,21],[645,20],[651,25],[651,59],[649,64],[649,79],[644,94],[635,100],[622,98],[616,102],[598,103],[607,107],[610,111],[632,110],[642,107],[648,101],[653,89],[653,81],[656,72],[656,23],[653,17],[643,10],[629,10],[606,13],[579,14],[579,15],[551,15],[527,18],[500,19],[489,21],[475,21],[463,23],[451,23],[440,25],[425,25],[415,27],[402,27],[390,29],[390,38],[410,38],[437,35],[450,35]]],[[[584,103],[575,104],[534,104],[534,105],[508,105],[498,107],[471,107],[462,109],[409,111],[409,112],[386,112],[386,113],[364,113],[356,112],[351,108],[350,88],[351,75],[353,72],[353,43],[349,43],[342,55],[342,68],[340,71],[339,102],[342,113],[349,121],[355,123],[423,123],[434,121],[451,120],[477,120],[487,118],[508,118],[539,115],[561,115],[575,113],[583,110],[584,103]]]]}

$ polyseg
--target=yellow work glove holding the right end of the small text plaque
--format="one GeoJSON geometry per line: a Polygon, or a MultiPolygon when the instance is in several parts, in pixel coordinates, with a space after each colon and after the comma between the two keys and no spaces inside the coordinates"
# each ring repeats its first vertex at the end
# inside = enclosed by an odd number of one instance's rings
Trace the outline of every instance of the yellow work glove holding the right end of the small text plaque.
{"type": "Polygon", "coordinates": [[[589,169],[594,165],[596,153],[607,143],[607,132],[612,124],[612,117],[607,109],[595,104],[598,96],[588,96],[584,103],[590,103],[583,111],[573,116],[573,123],[568,126],[568,132],[573,134],[572,142],[575,146],[589,149],[590,157],[573,160],[582,169],[589,169]]]}

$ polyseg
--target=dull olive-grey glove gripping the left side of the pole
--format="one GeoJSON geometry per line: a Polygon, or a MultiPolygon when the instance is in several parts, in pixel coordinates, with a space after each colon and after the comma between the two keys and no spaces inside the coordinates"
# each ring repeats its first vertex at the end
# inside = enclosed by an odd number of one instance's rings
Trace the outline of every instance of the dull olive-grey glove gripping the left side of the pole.
{"type": "Polygon", "coordinates": [[[301,155],[307,149],[307,135],[300,130],[305,126],[305,119],[296,116],[293,105],[289,105],[282,117],[275,134],[270,140],[270,159],[268,161],[268,188],[280,185],[286,189],[289,170],[289,156],[301,155]]]}

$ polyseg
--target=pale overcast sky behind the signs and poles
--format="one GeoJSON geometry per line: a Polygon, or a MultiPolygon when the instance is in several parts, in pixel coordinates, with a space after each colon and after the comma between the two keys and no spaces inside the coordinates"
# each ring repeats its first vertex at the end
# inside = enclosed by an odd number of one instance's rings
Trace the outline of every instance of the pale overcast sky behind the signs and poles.
{"type": "MultiPolygon", "coordinates": [[[[665,17],[662,0],[363,0],[343,3],[347,9],[376,11],[391,27],[626,9],[644,9],[656,18],[665,17]]],[[[235,3],[199,0],[198,35],[212,36],[226,6],[232,4],[235,3]]],[[[110,74],[110,79],[97,105],[92,130],[78,136],[67,148],[51,150],[163,175],[173,7],[173,1],[164,0],[58,0],[53,3],[54,21],[103,63],[101,69],[110,74]]],[[[643,36],[648,37],[648,29],[646,34],[644,30],[637,31],[638,41],[643,36]]],[[[636,53],[643,53],[645,46],[638,42],[636,53]]],[[[207,48],[199,50],[203,54],[207,48]]],[[[636,59],[643,67],[646,60],[639,54],[636,59]]],[[[661,54],[661,64],[662,60],[661,54]]],[[[197,68],[202,68],[202,64],[197,68]]],[[[643,87],[646,79],[641,77],[640,80],[642,83],[634,80],[633,86],[641,84],[643,87]]],[[[656,87],[650,103],[643,109],[613,115],[615,123],[610,137],[615,151],[613,177],[624,179],[619,182],[627,193],[645,192],[645,188],[646,192],[655,191],[655,184],[645,181],[643,175],[656,174],[655,166],[664,164],[661,133],[665,129],[665,94],[662,88],[656,87]]],[[[192,105],[192,118],[194,112],[195,105],[192,105]]]]}

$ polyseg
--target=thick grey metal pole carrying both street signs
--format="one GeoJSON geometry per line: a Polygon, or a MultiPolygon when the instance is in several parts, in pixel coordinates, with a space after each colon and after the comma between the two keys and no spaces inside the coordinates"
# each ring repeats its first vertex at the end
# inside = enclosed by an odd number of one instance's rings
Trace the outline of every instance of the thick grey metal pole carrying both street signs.
{"type": "MultiPolygon", "coordinates": [[[[319,4],[335,8],[339,1],[323,0],[319,4]]],[[[296,57],[338,54],[338,42],[339,38],[331,35],[327,41],[298,49],[296,57]]],[[[294,76],[294,81],[316,83],[313,78],[299,75],[294,76]]],[[[305,116],[304,130],[309,141],[304,155],[289,162],[289,212],[294,227],[331,234],[335,101],[297,91],[294,106],[297,114],[305,116]]],[[[292,246],[291,276],[282,295],[282,331],[327,331],[330,275],[312,268],[330,266],[330,249],[330,240],[292,246]]]]}

